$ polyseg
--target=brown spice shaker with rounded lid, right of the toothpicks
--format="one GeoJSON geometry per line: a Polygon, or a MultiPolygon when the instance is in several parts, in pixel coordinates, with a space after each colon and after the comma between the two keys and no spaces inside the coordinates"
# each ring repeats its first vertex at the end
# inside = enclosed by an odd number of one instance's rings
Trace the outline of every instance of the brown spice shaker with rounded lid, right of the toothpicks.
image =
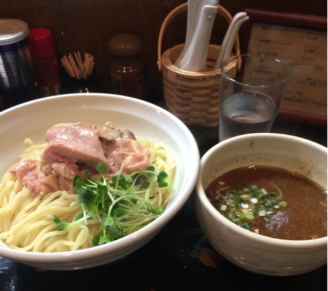
{"type": "Polygon", "coordinates": [[[113,93],[144,98],[144,67],[139,58],[141,49],[139,38],[132,34],[118,34],[107,43],[111,54],[113,93]]]}

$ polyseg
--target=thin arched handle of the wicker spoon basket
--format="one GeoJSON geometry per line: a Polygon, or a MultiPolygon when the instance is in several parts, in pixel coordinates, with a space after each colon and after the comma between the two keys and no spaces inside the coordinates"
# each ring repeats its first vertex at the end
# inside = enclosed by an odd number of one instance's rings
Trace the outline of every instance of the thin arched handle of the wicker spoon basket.
{"type": "MultiPolygon", "coordinates": [[[[223,16],[223,19],[225,19],[228,23],[230,23],[232,21],[232,16],[228,12],[228,10],[226,10],[226,8],[223,8],[223,6],[221,6],[221,5],[217,5],[217,8],[218,8],[217,13],[219,15],[223,16]]],[[[166,30],[166,27],[168,26],[168,23],[170,23],[171,20],[175,18],[175,16],[186,11],[187,9],[188,9],[188,2],[177,6],[177,8],[173,9],[170,13],[168,13],[168,15],[166,16],[166,18],[164,19],[164,21],[162,23],[160,35],[158,36],[158,45],[157,45],[157,67],[158,67],[159,71],[162,71],[162,61],[161,61],[162,60],[162,38],[163,38],[164,32],[166,30]]],[[[236,37],[236,40],[234,42],[234,51],[235,51],[236,55],[240,54],[240,43],[239,43],[238,36],[236,37]]]]}

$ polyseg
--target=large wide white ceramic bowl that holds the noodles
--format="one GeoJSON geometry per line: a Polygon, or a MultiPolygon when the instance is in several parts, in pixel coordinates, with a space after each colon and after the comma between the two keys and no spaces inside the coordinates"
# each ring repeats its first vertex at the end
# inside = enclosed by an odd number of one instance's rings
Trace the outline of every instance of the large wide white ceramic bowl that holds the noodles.
{"type": "Polygon", "coordinates": [[[79,93],[27,102],[0,113],[0,175],[18,161],[23,139],[44,143],[45,132],[56,123],[84,121],[102,126],[112,121],[136,136],[166,143],[176,162],[173,194],[162,216],[135,233],[102,246],[63,253],[15,251],[0,242],[0,256],[29,266],[72,270],[107,264],[149,242],[182,208],[199,170],[197,143],[188,128],[168,111],[141,100],[119,95],[79,93]]]}

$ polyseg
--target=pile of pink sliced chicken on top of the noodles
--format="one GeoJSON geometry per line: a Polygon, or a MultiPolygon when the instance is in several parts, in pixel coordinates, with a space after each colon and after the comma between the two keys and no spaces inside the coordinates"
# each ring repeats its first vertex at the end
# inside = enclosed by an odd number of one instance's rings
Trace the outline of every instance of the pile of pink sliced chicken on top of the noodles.
{"type": "Polygon", "coordinates": [[[31,195],[58,189],[73,193],[74,176],[98,175],[96,165],[108,166],[106,176],[130,174],[149,167],[149,151],[129,130],[110,122],[104,128],[77,122],[56,124],[47,130],[41,161],[25,159],[10,168],[31,195]]]}

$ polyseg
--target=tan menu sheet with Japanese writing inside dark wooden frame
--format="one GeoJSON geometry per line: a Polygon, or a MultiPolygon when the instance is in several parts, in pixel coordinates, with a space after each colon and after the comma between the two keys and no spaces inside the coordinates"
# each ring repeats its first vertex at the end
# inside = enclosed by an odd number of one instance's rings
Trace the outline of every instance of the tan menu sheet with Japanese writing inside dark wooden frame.
{"type": "Polygon", "coordinates": [[[270,14],[265,22],[256,19],[254,11],[249,15],[252,23],[246,51],[289,65],[291,78],[283,95],[281,113],[327,124],[327,18],[326,24],[321,23],[326,30],[318,30],[311,23],[296,27],[295,14],[291,25],[286,25],[289,22],[285,14],[281,17],[283,25],[276,17],[270,21],[270,14]]]}

